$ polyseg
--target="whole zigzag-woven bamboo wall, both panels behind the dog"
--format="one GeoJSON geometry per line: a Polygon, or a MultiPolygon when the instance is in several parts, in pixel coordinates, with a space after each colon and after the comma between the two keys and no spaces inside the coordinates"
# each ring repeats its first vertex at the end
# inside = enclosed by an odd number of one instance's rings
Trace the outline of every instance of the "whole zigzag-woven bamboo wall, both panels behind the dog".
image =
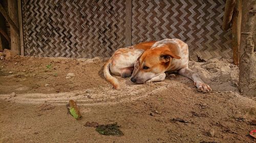
{"type": "MultiPolygon", "coordinates": [[[[126,0],[127,1],[127,0],[126,0]]],[[[125,0],[23,1],[25,54],[93,58],[125,45],[125,0]]],[[[179,38],[203,59],[231,58],[225,0],[132,1],[132,44],[179,38]]]]}

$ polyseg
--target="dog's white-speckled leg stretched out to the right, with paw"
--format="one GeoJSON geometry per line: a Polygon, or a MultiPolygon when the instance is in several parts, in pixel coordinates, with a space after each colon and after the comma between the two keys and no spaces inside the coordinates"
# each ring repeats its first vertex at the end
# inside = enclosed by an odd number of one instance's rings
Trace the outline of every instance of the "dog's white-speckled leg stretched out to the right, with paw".
{"type": "Polygon", "coordinates": [[[178,73],[180,75],[182,75],[182,76],[185,76],[185,77],[193,80],[198,91],[204,92],[204,93],[206,93],[208,91],[211,91],[210,86],[203,82],[203,80],[199,77],[198,73],[196,73],[195,71],[189,69],[188,67],[180,69],[178,71],[178,73]]]}

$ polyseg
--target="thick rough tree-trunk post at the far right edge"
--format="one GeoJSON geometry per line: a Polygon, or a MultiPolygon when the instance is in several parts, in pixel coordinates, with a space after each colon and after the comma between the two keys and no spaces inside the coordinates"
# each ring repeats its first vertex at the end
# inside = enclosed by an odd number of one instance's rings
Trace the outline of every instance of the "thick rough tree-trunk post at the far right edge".
{"type": "Polygon", "coordinates": [[[246,96],[256,97],[256,0],[243,0],[242,11],[239,90],[246,96]]]}

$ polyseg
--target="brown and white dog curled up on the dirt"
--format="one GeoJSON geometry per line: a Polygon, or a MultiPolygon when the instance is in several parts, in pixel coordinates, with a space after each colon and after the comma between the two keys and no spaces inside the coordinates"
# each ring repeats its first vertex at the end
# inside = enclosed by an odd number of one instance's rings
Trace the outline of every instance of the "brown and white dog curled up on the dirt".
{"type": "Polygon", "coordinates": [[[192,79],[200,92],[211,90],[199,75],[188,68],[188,46],[179,39],[143,42],[130,47],[120,48],[104,66],[104,76],[115,89],[118,80],[110,71],[121,77],[131,77],[135,83],[162,81],[166,71],[178,73],[192,79]]]}

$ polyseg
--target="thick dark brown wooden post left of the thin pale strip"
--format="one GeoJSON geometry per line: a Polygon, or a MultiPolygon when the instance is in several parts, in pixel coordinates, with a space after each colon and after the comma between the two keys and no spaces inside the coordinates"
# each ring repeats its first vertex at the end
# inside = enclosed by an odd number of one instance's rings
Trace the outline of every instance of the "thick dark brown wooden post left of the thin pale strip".
{"type": "MultiPolygon", "coordinates": [[[[18,3],[17,0],[8,1],[8,13],[14,24],[18,26],[18,3]]],[[[11,29],[11,50],[17,54],[20,54],[20,41],[19,41],[19,30],[18,34],[15,32],[13,27],[11,29]]]]}

